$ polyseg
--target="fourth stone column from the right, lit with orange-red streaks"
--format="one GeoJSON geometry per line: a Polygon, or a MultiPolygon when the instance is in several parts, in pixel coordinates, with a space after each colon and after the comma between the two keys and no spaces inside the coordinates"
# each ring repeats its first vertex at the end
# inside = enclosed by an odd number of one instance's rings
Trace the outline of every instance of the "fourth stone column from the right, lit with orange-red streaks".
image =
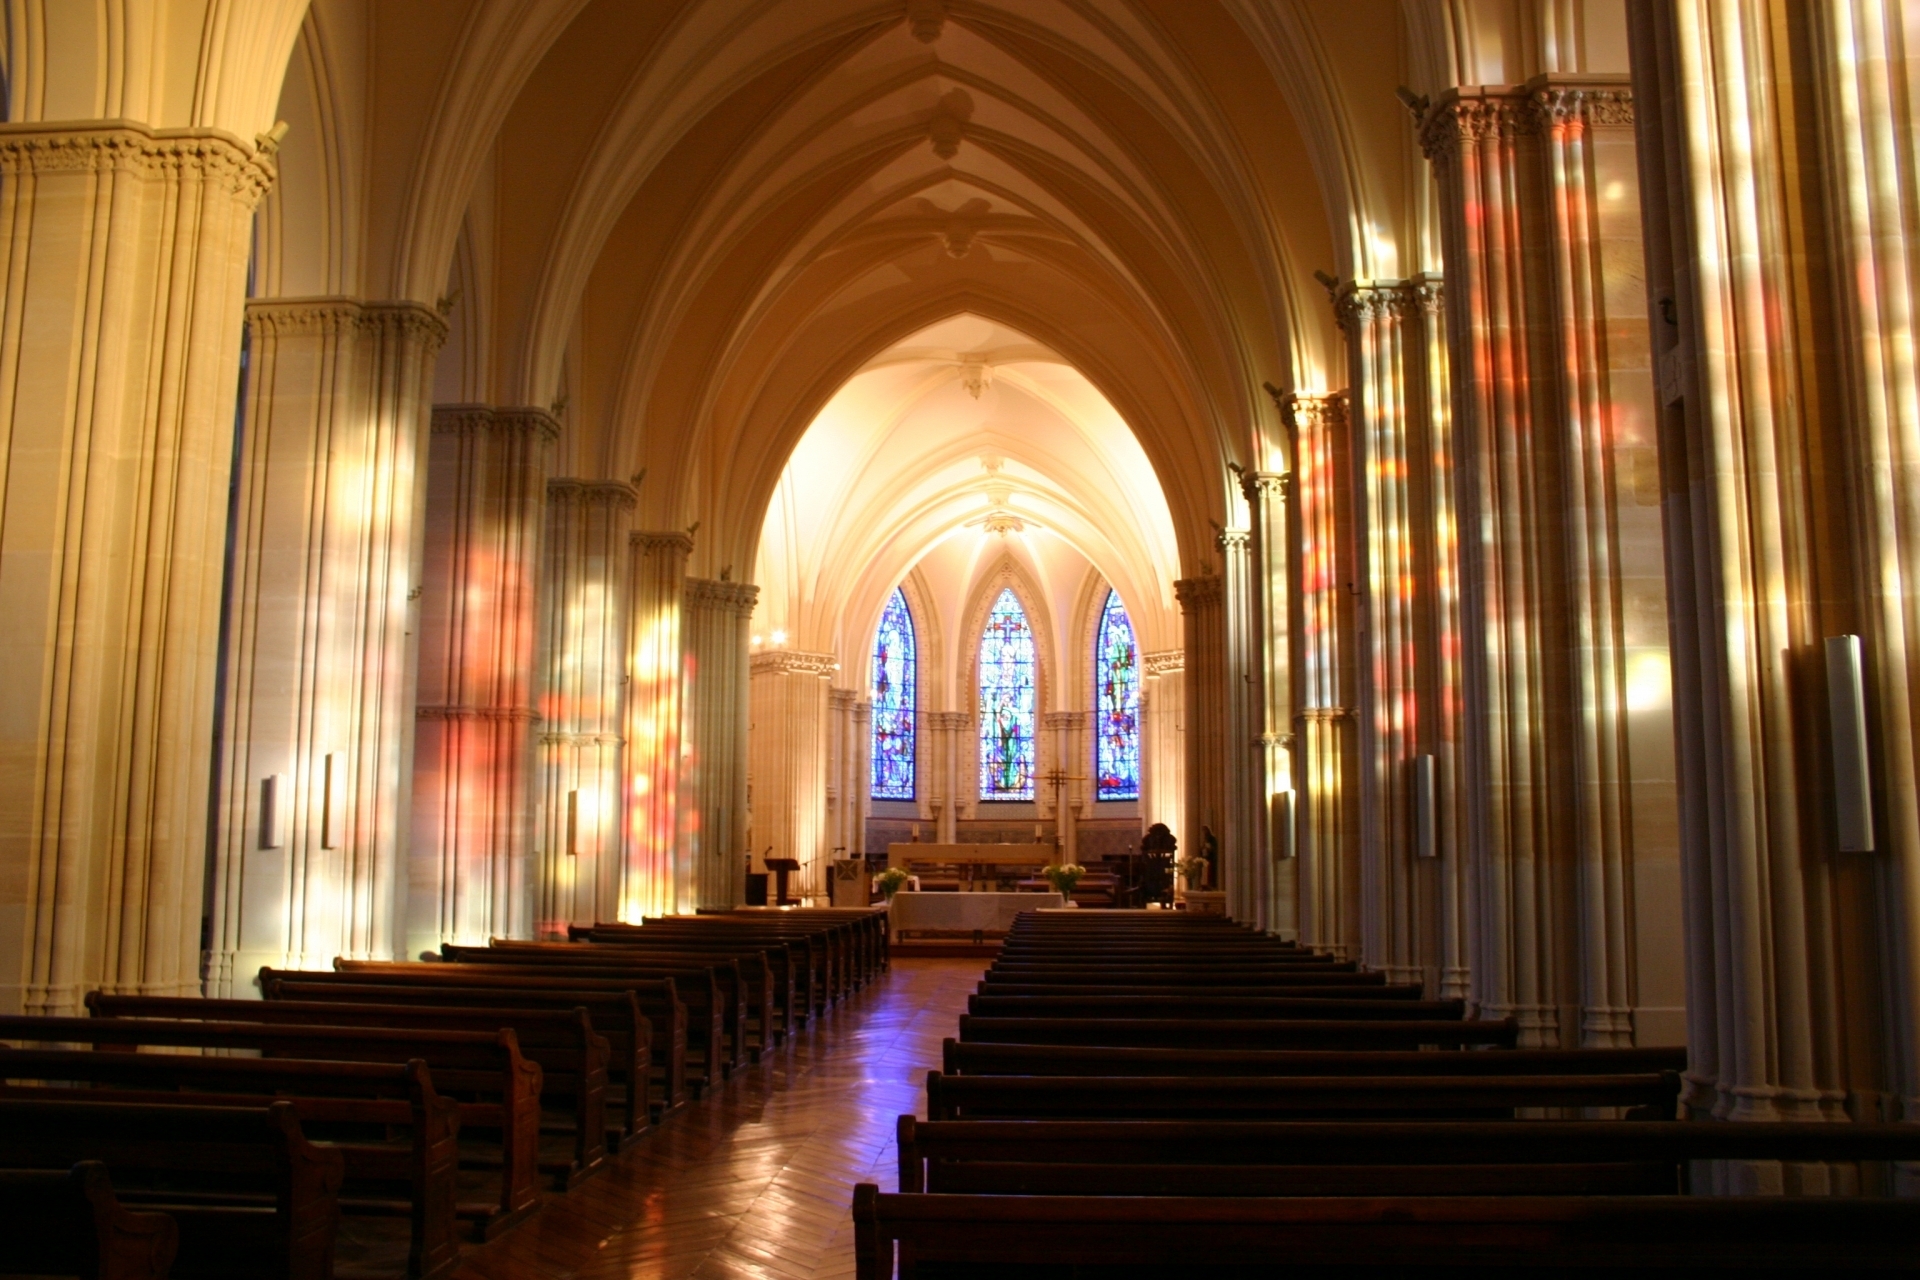
{"type": "Polygon", "coordinates": [[[1292,395],[1294,837],[1300,940],[1359,954],[1346,395],[1292,395]]]}

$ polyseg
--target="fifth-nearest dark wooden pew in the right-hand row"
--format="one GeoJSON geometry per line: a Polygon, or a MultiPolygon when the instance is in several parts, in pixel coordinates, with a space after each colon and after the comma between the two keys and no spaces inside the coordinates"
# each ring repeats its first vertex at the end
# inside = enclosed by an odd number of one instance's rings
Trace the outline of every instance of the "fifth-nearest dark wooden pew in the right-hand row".
{"type": "Polygon", "coordinates": [[[1200,1021],[1100,1017],[975,1017],[960,1015],[960,1038],[998,1044],[1104,1044],[1116,1048],[1223,1050],[1417,1050],[1519,1044],[1519,1023],[1500,1021],[1325,1021],[1235,1019],[1200,1021]]]}

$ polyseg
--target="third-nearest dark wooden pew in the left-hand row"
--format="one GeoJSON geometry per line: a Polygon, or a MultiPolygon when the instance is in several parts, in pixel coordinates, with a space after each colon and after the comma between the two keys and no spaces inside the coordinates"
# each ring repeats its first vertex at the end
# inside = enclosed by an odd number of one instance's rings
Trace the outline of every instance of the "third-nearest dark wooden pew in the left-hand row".
{"type": "Polygon", "coordinates": [[[434,1092],[420,1059],[342,1063],[0,1048],[0,1096],[219,1107],[292,1102],[307,1140],[340,1151],[346,1161],[342,1213],[405,1219],[407,1274],[417,1280],[438,1280],[459,1267],[459,1105],[434,1092]],[[369,1126],[380,1138],[369,1138],[369,1126]],[[403,1144],[392,1140],[396,1130],[405,1134],[403,1144]]]}

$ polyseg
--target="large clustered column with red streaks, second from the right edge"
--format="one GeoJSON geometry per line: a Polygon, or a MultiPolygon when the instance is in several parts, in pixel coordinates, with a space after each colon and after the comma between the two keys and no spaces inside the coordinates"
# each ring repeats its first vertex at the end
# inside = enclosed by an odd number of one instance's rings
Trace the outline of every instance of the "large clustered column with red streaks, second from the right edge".
{"type": "MultiPolygon", "coordinates": [[[[1676,858],[1665,754],[1653,382],[1624,77],[1459,88],[1423,146],[1440,188],[1459,430],[1476,998],[1528,1044],[1634,1038],[1636,912],[1676,858]],[[1644,706],[1628,704],[1642,668],[1644,706]],[[1636,804],[1651,821],[1636,819],[1636,804]],[[1571,858],[1567,856],[1571,852],[1571,858]]],[[[1655,961],[1659,950],[1642,952],[1655,961]]]]}

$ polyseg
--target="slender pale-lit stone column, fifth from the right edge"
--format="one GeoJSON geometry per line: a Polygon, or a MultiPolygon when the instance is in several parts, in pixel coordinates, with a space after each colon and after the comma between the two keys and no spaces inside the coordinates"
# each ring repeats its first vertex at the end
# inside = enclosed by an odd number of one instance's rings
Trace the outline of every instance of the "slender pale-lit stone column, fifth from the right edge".
{"type": "Polygon", "coordinates": [[[1252,580],[1252,628],[1248,664],[1254,687],[1254,825],[1260,839],[1254,858],[1265,867],[1263,900],[1267,929],[1283,938],[1300,936],[1296,867],[1283,858],[1286,833],[1273,825],[1275,798],[1292,796],[1292,645],[1286,629],[1286,484],[1279,472],[1246,472],[1248,553],[1252,580]]]}

